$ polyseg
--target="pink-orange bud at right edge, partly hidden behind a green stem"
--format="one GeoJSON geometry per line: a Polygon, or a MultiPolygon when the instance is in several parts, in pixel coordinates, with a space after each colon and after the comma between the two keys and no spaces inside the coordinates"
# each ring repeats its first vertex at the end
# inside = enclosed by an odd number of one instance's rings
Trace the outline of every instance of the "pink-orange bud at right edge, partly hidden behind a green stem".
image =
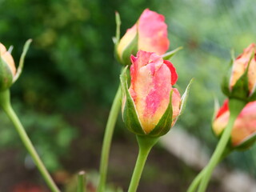
{"type": "MultiPolygon", "coordinates": [[[[231,148],[246,149],[251,146],[256,139],[256,102],[249,102],[242,109],[238,118],[234,122],[234,127],[231,133],[230,146],[231,148]]],[[[213,122],[214,134],[220,136],[222,131],[227,126],[230,118],[228,100],[218,110],[213,122]]]]}

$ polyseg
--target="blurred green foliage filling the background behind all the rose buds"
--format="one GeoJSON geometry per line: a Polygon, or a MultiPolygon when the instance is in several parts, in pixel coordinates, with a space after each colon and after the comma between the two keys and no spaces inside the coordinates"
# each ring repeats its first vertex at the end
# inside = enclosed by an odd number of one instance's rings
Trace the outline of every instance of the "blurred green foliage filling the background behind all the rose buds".
{"type": "MultiPolygon", "coordinates": [[[[24,42],[33,39],[22,76],[11,91],[19,103],[18,115],[46,166],[57,169],[58,158],[67,156],[75,137],[75,129],[59,114],[72,116],[90,109],[97,116],[99,109],[109,110],[121,68],[111,39],[114,11],[122,19],[122,37],[146,7],[165,15],[170,50],[183,46],[171,58],[182,87],[179,91],[184,92],[194,78],[186,110],[177,123],[213,150],[217,141],[210,130],[213,95],[220,101],[224,98],[220,83],[230,49],[238,54],[255,42],[252,5],[254,0],[0,0],[0,41],[14,46],[16,64],[24,42]]],[[[0,118],[0,145],[16,143],[23,149],[10,121],[2,113],[0,118]]],[[[103,130],[105,118],[97,116],[98,129],[103,130]]],[[[251,151],[256,154],[255,147],[251,151]]],[[[249,154],[235,154],[230,162],[244,169],[239,163],[244,157],[248,162],[255,159],[249,154]]]]}

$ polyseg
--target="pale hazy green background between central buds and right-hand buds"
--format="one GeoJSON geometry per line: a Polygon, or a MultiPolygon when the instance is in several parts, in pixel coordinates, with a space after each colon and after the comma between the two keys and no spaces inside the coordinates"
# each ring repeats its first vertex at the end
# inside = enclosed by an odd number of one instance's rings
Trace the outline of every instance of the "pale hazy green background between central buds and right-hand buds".
{"type": "MultiPolygon", "coordinates": [[[[228,72],[230,50],[234,49],[238,55],[256,40],[256,26],[251,22],[256,17],[252,3],[252,0],[177,1],[171,11],[165,4],[158,7],[166,16],[171,49],[184,47],[171,59],[179,74],[178,85],[186,87],[188,79],[194,78],[186,110],[177,124],[197,135],[210,151],[217,142],[210,131],[214,97],[220,101],[225,98],[220,85],[228,72]]],[[[254,153],[255,148],[251,151],[254,153]]],[[[247,158],[254,164],[253,158],[247,158]]],[[[244,168],[238,159],[233,160],[236,166],[244,168]]]]}

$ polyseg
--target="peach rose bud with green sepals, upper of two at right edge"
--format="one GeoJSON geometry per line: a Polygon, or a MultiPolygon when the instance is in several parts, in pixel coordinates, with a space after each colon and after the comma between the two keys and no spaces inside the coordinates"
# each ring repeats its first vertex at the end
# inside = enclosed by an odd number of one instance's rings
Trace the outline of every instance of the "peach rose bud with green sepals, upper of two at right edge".
{"type": "Polygon", "coordinates": [[[234,59],[230,77],[226,76],[222,90],[229,98],[248,102],[256,100],[256,47],[252,43],[238,58],[234,59]]]}

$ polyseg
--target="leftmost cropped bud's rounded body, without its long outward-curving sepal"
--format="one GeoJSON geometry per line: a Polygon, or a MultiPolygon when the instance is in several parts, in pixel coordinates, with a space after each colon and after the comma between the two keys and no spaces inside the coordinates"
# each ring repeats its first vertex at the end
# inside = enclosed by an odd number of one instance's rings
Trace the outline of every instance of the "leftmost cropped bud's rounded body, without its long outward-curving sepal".
{"type": "Polygon", "coordinates": [[[6,47],[0,43],[0,90],[8,89],[16,74],[16,67],[14,64],[14,58],[6,50],[6,47]]]}

